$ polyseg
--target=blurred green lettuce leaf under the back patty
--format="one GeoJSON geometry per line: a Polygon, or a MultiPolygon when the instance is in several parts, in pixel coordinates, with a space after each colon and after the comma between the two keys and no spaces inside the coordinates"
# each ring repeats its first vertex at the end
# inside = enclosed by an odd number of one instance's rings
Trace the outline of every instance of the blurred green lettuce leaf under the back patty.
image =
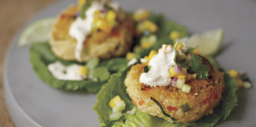
{"type": "Polygon", "coordinates": [[[88,79],[74,81],[58,80],[51,75],[47,68],[47,65],[57,61],[61,62],[63,65],[85,65],[85,63],[78,63],[75,61],[65,61],[59,59],[53,54],[53,52],[51,52],[51,48],[48,42],[32,44],[30,48],[30,62],[32,63],[32,67],[39,78],[41,78],[43,81],[45,81],[47,84],[54,88],[73,91],[78,89],[86,89],[87,91],[94,93],[100,91],[102,85],[107,83],[107,80],[110,77],[109,71],[117,72],[119,69],[124,67],[124,63],[126,63],[125,67],[127,67],[128,63],[128,61],[125,58],[115,58],[113,60],[110,59],[103,61],[106,65],[108,65],[105,66],[102,65],[102,62],[99,62],[97,58],[93,58],[86,65],[89,67],[89,70],[92,70],[89,71],[89,74],[92,75],[91,79],[96,79],[96,81],[88,79]],[[113,69],[114,67],[111,66],[113,65],[113,62],[116,65],[121,63],[122,67],[117,67],[113,69]]]}

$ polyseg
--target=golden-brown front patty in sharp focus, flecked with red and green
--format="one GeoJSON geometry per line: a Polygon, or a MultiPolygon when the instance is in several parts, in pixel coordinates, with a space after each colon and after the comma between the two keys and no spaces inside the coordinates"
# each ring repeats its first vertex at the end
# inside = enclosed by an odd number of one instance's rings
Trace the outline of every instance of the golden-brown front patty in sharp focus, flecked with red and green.
{"type": "MultiPolygon", "coordinates": [[[[182,92],[181,89],[169,86],[147,86],[140,83],[140,75],[144,73],[143,64],[133,65],[124,80],[127,86],[127,93],[132,98],[132,102],[141,111],[158,116],[172,122],[170,117],[164,116],[159,106],[151,100],[151,97],[158,101],[164,111],[175,118],[175,122],[193,122],[204,115],[213,114],[213,109],[221,101],[221,94],[224,91],[224,73],[217,68],[210,70],[210,78],[206,80],[192,79],[186,84],[191,86],[189,93],[182,92]],[[183,113],[181,106],[188,104],[191,108],[183,113]]],[[[209,65],[208,65],[209,67],[209,65]]]]}

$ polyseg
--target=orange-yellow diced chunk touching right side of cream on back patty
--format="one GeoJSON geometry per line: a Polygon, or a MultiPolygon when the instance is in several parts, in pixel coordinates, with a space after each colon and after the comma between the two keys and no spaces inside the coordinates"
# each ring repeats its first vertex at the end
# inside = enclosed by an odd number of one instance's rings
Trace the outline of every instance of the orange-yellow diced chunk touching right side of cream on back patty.
{"type": "Polygon", "coordinates": [[[94,25],[97,29],[101,29],[102,31],[107,33],[112,30],[112,26],[108,24],[105,18],[94,18],[94,25]]]}

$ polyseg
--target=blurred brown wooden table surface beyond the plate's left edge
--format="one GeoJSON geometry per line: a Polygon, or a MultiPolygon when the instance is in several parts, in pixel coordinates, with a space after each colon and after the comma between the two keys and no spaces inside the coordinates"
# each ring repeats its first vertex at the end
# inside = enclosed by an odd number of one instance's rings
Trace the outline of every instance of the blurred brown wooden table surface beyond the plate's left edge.
{"type": "Polygon", "coordinates": [[[0,0],[0,127],[15,127],[3,97],[3,68],[8,46],[16,32],[47,5],[57,0],[0,0]]]}

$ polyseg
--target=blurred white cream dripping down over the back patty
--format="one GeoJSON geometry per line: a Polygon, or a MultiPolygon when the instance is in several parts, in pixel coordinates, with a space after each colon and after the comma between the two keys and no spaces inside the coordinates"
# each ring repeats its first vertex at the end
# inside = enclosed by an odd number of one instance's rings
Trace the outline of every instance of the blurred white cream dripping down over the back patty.
{"type": "Polygon", "coordinates": [[[69,35],[76,39],[77,44],[75,46],[75,58],[81,61],[81,54],[84,48],[84,40],[86,35],[92,30],[92,23],[94,21],[94,12],[102,10],[104,7],[104,1],[93,1],[92,5],[86,10],[86,18],[82,19],[77,17],[76,20],[71,24],[69,29],[69,35]]]}

